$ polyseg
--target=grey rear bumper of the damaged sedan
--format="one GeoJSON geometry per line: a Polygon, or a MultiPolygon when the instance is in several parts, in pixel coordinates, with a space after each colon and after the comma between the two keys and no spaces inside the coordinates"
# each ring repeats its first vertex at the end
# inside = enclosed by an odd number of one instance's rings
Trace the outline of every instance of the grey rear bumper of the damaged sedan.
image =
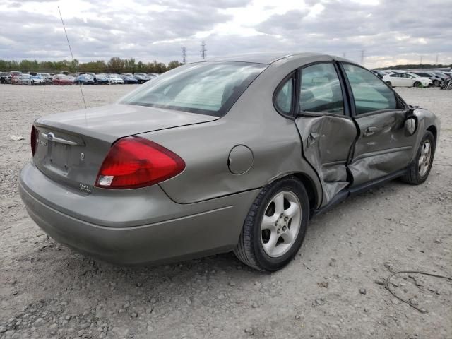
{"type": "Polygon", "coordinates": [[[52,182],[32,164],[20,173],[19,191],[32,220],[57,242],[124,265],[229,251],[237,244],[258,193],[247,191],[194,204],[174,203],[158,185],[125,190],[129,198],[115,193],[106,196],[103,191],[112,190],[102,189],[87,195],[52,182]],[[107,220],[100,221],[104,217],[107,220]]]}

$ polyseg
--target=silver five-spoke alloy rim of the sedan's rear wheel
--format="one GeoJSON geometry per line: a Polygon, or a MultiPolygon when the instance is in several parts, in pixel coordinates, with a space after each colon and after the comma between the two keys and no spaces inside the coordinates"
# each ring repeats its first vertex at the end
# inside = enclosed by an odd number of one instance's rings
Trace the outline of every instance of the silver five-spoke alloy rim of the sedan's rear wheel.
{"type": "Polygon", "coordinates": [[[261,221],[261,243],[268,256],[285,254],[297,239],[302,221],[302,206],[291,191],[276,194],[266,206],[261,221]]]}

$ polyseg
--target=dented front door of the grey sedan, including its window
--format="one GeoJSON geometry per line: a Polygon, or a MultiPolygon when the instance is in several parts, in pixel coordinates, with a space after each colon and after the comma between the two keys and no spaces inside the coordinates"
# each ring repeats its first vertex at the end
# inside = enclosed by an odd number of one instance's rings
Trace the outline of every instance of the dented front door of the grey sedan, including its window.
{"type": "Polygon", "coordinates": [[[341,66],[350,85],[352,115],[359,126],[348,165],[355,187],[405,169],[416,135],[405,131],[408,105],[386,83],[355,64],[341,66]]]}

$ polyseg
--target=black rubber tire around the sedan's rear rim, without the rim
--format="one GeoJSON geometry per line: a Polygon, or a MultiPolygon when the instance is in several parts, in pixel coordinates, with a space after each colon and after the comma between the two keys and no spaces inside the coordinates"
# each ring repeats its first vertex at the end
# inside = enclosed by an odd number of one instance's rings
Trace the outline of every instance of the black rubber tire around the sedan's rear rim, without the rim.
{"type": "Polygon", "coordinates": [[[267,270],[273,272],[280,270],[289,263],[299,251],[300,246],[306,234],[309,222],[309,198],[302,182],[296,177],[285,177],[265,186],[254,200],[249,209],[244,222],[242,234],[240,234],[239,243],[234,249],[234,254],[242,263],[245,263],[257,270],[267,270]],[[280,192],[290,191],[297,196],[301,205],[301,218],[299,231],[292,243],[292,246],[281,256],[272,257],[266,254],[261,241],[261,220],[266,208],[273,197],[280,192]]]}

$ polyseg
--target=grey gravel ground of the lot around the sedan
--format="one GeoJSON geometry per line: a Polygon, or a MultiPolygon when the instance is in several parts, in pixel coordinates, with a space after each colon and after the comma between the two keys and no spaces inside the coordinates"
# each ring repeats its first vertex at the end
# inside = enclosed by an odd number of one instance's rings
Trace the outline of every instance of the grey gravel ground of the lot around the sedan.
{"type": "MultiPolygon", "coordinates": [[[[89,106],[134,85],[88,86],[89,106]]],[[[311,221],[295,261],[259,273],[232,254],[123,268],[77,254],[44,233],[20,201],[32,121],[82,107],[76,86],[0,85],[0,338],[452,338],[452,93],[400,88],[439,114],[426,183],[395,181],[311,221]],[[10,135],[25,140],[12,141],[10,135]]]]}

